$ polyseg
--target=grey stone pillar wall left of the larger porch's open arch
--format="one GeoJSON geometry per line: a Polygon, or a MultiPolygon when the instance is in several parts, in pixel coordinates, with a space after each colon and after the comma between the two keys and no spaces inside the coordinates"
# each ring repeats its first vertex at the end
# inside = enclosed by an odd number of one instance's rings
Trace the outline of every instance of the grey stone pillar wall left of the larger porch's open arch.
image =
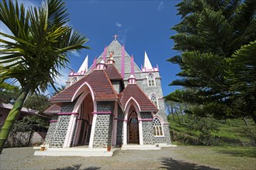
{"type": "Polygon", "coordinates": [[[54,135],[50,140],[50,148],[62,148],[67,134],[71,115],[59,115],[54,135]]]}

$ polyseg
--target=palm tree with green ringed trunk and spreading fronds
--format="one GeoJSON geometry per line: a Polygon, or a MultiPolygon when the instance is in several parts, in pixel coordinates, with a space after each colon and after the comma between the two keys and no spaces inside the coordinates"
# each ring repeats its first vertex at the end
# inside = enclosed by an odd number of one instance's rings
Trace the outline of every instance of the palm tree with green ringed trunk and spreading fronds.
{"type": "Polygon", "coordinates": [[[0,32],[9,38],[0,39],[0,83],[12,78],[21,86],[0,133],[2,153],[28,93],[40,93],[49,86],[54,87],[60,75],[58,70],[69,62],[67,55],[74,50],[88,49],[83,46],[88,39],[68,26],[67,8],[61,0],[46,0],[40,7],[29,9],[18,5],[17,1],[14,4],[11,0],[3,0],[0,9],[1,21],[12,32],[12,35],[0,32]]]}

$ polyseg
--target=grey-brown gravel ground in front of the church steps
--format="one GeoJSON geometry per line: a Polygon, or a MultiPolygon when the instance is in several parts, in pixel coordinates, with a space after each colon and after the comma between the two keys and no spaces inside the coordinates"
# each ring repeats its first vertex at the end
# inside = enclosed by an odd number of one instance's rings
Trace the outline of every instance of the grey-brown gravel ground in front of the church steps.
{"type": "Polygon", "coordinates": [[[214,169],[186,160],[178,151],[185,147],[162,148],[161,151],[116,151],[112,157],[34,156],[33,148],[5,148],[0,155],[0,169],[214,169]]]}

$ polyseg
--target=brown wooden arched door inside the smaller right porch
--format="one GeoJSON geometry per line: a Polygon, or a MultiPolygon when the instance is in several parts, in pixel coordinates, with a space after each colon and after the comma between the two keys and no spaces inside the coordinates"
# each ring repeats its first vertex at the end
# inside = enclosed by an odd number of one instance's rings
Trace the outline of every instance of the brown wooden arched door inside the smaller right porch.
{"type": "Polygon", "coordinates": [[[140,144],[138,116],[134,110],[130,113],[127,126],[128,143],[140,144]]]}

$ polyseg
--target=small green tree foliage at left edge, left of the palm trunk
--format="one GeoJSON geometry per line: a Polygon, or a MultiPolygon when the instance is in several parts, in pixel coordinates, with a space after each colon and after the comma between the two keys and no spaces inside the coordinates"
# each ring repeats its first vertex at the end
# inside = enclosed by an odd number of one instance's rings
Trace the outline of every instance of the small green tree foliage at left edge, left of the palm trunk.
{"type": "Polygon", "coordinates": [[[19,87],[9,83],[0,83],[0,100],[5,104],[13,104],[19,95],[19,87]]]}

